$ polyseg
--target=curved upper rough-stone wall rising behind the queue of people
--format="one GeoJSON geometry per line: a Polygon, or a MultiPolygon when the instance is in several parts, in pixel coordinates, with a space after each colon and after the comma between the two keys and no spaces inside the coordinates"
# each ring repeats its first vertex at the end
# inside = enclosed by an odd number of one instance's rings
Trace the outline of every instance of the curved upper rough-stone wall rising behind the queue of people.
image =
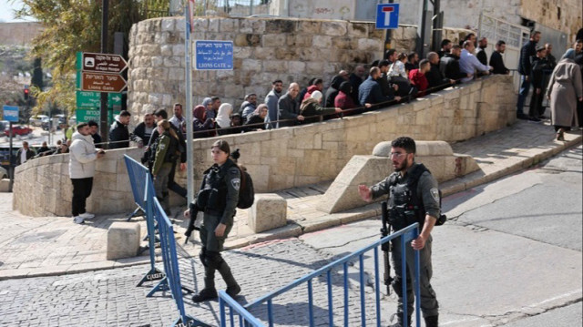
{"type": "MultiPolygon", "coordinates": [[[[265,18],[197,18],[193,40],[232,40],[232,71],[194,71],[193,103],[219,96],[239,106],[245,94],[262,100],[271,82],[325,86],[341,69],[383,56],[384,31],[371,23],[265,18]]],[[[132,124],[146,112],[185,102],[184,19],[149,19],[129,36],[128,108],[132,124]]]]}

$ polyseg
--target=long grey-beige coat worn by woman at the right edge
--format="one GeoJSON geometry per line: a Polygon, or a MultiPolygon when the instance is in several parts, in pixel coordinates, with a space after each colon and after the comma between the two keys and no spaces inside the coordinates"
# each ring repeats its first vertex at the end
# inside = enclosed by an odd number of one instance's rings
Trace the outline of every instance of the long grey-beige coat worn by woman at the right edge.
{"type": "Polygon", "coordinates": [[[555,126],[578,125],[577,101],[583,97],[581,68],[571,59],[561,59],[548,82],[551,123],[555,126]]]}

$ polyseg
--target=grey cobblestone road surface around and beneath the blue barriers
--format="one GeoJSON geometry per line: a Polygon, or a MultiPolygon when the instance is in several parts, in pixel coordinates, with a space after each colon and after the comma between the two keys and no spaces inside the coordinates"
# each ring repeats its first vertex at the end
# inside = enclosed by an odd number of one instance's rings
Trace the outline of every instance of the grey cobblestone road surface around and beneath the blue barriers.
{"type": "MultiPolygon", "coordinates": [[[[179,251],[181,252],[181,251],[179,251]]],[[[240,282],[242,296],[237,301],[253,301],[274,291],[302,275],[329,262],[327,254],[314,250],[298,239],[261,243],[240,250],[225,252],[225,260],[240,282]]],[[[179,260],[182,285],[199,291],[202,287],[202,267],[199,261],[179,260]]],[[[148,265],[137,265],[115,270],[91,271],[71,275],[36,277],[0,281],[0,326],[168,326],[178,318],[178,310],[169,293],[159,292],[146,298],[150,283],[136,287],[148,265]]],[[[349,271],[349,324],[361,325],[358,273],[349,271]]],[[[217,287],[224,289],[218,278],[217,287]]],[[[327,286],[325,278],[313,283],[315,325],[329,325],[327,318],[327,286]]],[[[366,321],[375,322],[373,288],[366,280],[366,321]]],[[[332,274],[335,324],[343,323],[343,274],[332,274]]],[[[273,301],[274,317],[278,325],[308,325],[307,288],[303,284],[273,301]]],[[[389,301],[384,301],[384,309],[389,301]]],[[[186,312],[212,326],[219,324],[218,301],[195,304],[185,296],[186,312]]],[[[385,311],[384,312],[388,312],[385,311]]],[[[260,305],[252,314],[265,321],[267,308],[260,305]]],[[[382,317],[385,323],[388,317],[382,317]]]]}

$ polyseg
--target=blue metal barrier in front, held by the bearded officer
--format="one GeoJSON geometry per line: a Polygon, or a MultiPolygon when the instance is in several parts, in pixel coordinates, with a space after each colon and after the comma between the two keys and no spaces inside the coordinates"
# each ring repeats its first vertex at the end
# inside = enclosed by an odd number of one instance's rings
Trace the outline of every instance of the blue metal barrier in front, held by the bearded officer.
{"type": "MultiPolygon", "coordinates": [[[[349,312],[348,312],[348,308],[349,308],[349,303],[348,303],[348,264],[350,261],[352,261],[353,259],[358,259],[359,261],[359,283],[360,283],[360,309],[361,309],[361,323],[360,326],[365,327],[366,326],[366,307],[365,307],[365,298],[364,298],[364,253],[373,250],[373,256],[374,256],[374,288],[375,288],[375,311],[376,311],[376,326],[381,326],[381,291],[380,291],[380,273],[379,273],[379,248],[386,242],[394,240],[396,238],[401,237],[401,244],[402,244],[402,258],[403,258],[403,264],[402,264],[402,276],[406,276],[407,275],[407,271],[406,271],[406,255],[404,253],[405,251],[405,243],[409,240],[414,240],[417,238],[417,236],[419,235],[419,229],[418,229],[418,224],[414,223],[413,225],[410,225],[406,228],[404,228],[403,230],[399,230],[394,232],[391,235],[388,235],[386,237],[384,237],[381,240],[377,240],[375,242],[373,242],[373,244],[364,247],[361,250],[357,250],[345,257],[343,257],[342,259],[339,259],[337,261],[333,261],[332,263],[329,263],[327,265],[325,265],[324,267],[322,267],[321,269],[317,270],[317,271],[313,271],[305,276],[303,276],[302,278],[296,280],[296,281],[292,281],[290,284],[281,287],[279,290],[276,291],[272,291],[271,293],[250,302],[249,304],[245,305],[244,307],[239,307],[238,303],[234,300],[232,300],[232,298],[230,298],[230,296],[227,293],[220,293],[220,312],[221,312],[221,321],[220,321],[220,326],[227,326],[227,320],[226,320],[226,316],[225,314],[223,314],[223,312],[226,312],[225,307],[228,306],[230,307],[230,326],[234,325],[234,319],[233,319],[233,312],[237,312],[237,314],[240,315],[240,326],[243,326],[243,322],[248,322],[248,325],[251,326],[263,326],[261,324],[261,322],[259,322],[255,317],[253,317],[251,314],[249,315],[249,317],[247,316],[247,314],[249,313],[248,311],[251,311],[253,308],[259,306],[261,303],[267,303],[267,322],[268,325],[271,327],[273,326],[274,323],[274,319],[273,319],[273,299],[279,295],[281,295],[282,293],[286,292],[286,291],[290,291],[293,288],[295,288],[296,286],[299,286],[300,284],[306,283],[307,284],[307,289],[308,289],[308,312],[309,312],[309,319],[310,319],[310,326],[314,326],[314,312],[313,312],[313,291],[312,291],[312,281],[320,276],[325,275],[326,277],[326,282],[327,282],[327,287],[328,287],[328,293],[327,293],[327,300],[328,300],[328,324],[330,326],[333,325],[333,317],[334,317],[334,312],[333,312],[333,307],[332,307],[332,271],[335,268],[339,268],[339,267],[343,267],[343,321],[344,321],[344,326],[348,326],[349,325],[349,312]],[[242,309],[242,310],[241,310],[242,309]],[[241,318],[242,316],[242,318],[241,318]],[[260,323],[260,324],[257,324],[260,323]]],[[[404,303],[407,303],[407,298],[406,298],[406,279],[403,279],[403,294],[404,294],[404,303]]],[[[420,316],[420,312],[419,312],[419,308],[420,308],[420,290],[419,290],[419,251],[414,251],[414,292],[415,292],[415,318],[416,318],[416,325],[417,327],[421,326],[421,316],[420,316]]],[[[407,306],[404,305],[404,326],[407,325],[407,306]]]]}

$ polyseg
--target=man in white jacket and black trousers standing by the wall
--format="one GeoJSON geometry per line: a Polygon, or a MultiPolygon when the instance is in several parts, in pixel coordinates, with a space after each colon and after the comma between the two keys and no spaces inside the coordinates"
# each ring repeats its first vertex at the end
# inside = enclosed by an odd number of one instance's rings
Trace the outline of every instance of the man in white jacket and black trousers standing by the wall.
{"type": "Polygon", "coordinates": [[[69,148],[69,177],[73,184],[71,207],[73,222],[82,224],[95,217],[86,210],[86,201],[93,189],[95,161],[105,155],[103,149],[95,148],[91,137],[91,128],[87,123],[77,125],[77,132],[71,136],[73,142],[69,148]]]}

